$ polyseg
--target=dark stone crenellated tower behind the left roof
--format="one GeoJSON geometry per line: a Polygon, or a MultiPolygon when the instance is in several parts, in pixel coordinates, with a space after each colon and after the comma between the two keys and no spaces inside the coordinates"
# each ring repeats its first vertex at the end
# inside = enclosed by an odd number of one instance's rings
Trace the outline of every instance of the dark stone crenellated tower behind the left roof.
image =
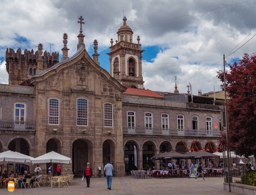
{"type": "MultiPolygon", "coordinates": [[[[24,54],[21,54],[20,48],[16,53],[12,48],[9,50],[7,48],[5,52],[5,61],[6,70],[9,74],[9,84],[19,85],[21,82],[35,76],[38,57],[38,51],[34,54],[33,49],[31,51],[25,49],[24,54]]],[[[50,68],[59,62],[59,53],[56,52],[52,52],[51,55],[49,52],[44,51],[44,54],[41,57],[43,67],[40,67],[40,69],[42,70],[50,68]]]]}

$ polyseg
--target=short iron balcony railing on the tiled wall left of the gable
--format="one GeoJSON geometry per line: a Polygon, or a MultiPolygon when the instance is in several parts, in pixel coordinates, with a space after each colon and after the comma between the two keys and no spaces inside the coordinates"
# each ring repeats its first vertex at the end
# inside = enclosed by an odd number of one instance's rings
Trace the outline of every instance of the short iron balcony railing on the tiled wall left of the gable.
{"type": "Polygon", "coordinates": [[[36,122],[0,121],[0,130],[35,131],[36,122]]]}

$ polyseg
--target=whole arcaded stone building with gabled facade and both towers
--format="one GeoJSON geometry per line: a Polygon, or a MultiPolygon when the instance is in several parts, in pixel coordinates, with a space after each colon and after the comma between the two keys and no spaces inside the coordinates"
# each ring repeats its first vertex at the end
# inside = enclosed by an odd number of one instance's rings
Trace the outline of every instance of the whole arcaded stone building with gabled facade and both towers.
{"type": "Polygon", "coordinates": [[[153,163],[149,158],[159,152],[218,149],[219,106],[170,101],[145,90],[144,50],[139,36],[133,43],[126,20],[116,44],[110,40],[110,74],[99,65],[97,40],[93,58],[85,50],[82,17],[77,51],[70,58],[68,35],[63,34],[61,62],[57,53],[43,55],[41,43],[35,54],[7,49],[9,84],[0,84],[2,152],[37,157],[55,151],[72,159],[62,167],[75,175],[81,175],[89,161],[97,176],[98,167],[103,169],[110,160],[114,175],[123,176],[136,164],[134,147],[138,169],[153,163]]]}

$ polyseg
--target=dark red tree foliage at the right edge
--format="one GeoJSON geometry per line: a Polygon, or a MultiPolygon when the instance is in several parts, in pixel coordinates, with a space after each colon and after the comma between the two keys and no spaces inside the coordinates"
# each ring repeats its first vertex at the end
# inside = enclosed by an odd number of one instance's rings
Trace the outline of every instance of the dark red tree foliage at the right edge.
{"type": "MultiPolygon", "coordinates": [[[[245,53],[238,63],[229,66],[230,72],[226,72],[226,92],[230,98],[227,146],[238,155],[254,155],[256,159],[256,53],[245,53]]],[[[224,83],[223,71],[219,70],[217,77],[224,83]]],[[[221,87],[224,90],[224,84],[221,87]]]]}

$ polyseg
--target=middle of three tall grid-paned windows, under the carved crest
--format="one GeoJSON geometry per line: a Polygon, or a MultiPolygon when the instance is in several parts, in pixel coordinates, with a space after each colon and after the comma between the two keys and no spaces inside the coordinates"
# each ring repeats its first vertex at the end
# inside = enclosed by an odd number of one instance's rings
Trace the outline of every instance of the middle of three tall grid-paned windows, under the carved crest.
{"type": "Polygon", "coordinates": [[[78,98],[76,101],[77,119],[76,125],[88,126],[88,100],[85,98],[78,98]]]}

